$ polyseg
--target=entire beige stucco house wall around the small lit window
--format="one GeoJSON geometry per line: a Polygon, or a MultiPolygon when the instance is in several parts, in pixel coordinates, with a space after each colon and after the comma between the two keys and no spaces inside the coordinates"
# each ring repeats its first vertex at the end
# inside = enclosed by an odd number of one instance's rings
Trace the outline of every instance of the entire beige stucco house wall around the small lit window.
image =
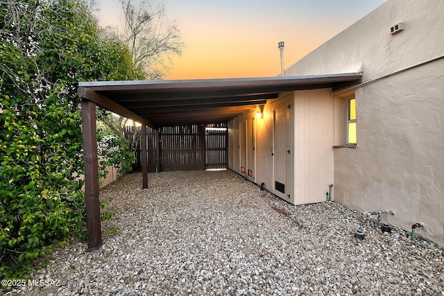
{"type": "MultiPolygon", "coordinates": [[[[393,210],[383,220],[404,229],[424,223],[416,233],[440,245],[444,59],[407,68],[442,57],[443,35],[444,1],[389,0],[286,70],[287,76],[362,71],[365,83],[355,90],[358,148],[333,148],[334,200],[363,212],[393,210]],[[404,30],[389,34],[399,21],[404,30]]],[[[344,101],[338,94],[334,100],[339,145],[345,111],[336,108],[344,101]]]]}

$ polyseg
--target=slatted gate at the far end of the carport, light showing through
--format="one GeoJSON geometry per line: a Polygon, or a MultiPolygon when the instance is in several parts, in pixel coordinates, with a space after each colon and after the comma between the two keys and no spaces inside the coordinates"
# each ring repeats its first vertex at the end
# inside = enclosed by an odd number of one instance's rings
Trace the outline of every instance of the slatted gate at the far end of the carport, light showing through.
{"type": "Polygon", "coordinates": [[[205,169],[227,168],[228,124],[210,124],[205,128],[205,169]]]}

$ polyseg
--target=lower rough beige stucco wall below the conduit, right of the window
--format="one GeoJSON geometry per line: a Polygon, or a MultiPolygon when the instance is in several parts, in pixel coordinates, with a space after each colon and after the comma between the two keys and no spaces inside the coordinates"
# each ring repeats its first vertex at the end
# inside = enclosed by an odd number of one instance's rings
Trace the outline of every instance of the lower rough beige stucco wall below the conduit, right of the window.
{"type": "Polygon", "coordinates": [[[444,245],[444,60],[358,89],[358,148],[335,150],[335,193],[444,245]]]}

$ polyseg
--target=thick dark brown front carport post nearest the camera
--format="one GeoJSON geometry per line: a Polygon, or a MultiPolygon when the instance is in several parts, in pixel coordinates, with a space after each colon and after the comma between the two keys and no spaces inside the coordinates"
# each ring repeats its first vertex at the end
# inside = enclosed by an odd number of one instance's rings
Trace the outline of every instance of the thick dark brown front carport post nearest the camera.
{"type": "Polygon", "coordinates": [[[96,104],[82,101],[83,162],[85,162],[85,202],[88,234],[87,252],[102,245],[99,201],[99,162],[97,160],[96,104]]]}

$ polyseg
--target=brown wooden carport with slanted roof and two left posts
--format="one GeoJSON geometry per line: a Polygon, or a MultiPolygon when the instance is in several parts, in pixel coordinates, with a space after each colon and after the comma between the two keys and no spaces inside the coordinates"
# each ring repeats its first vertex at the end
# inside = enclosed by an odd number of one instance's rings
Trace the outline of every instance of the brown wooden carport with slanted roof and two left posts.
{"type": "MultiPolygon", "coordinates": [[[[96,105],[153,129],[184,124],[219,123],[256,110],[282,92],[357,85],[360,73],[319,76],[234,78],[211,80],[150,80],[79,82],[82,99],[83,154],[88,248],[102,245],[96,105]]],[[[142,141],[142,187],[148,187],[146,141],[142,141]]]]}

